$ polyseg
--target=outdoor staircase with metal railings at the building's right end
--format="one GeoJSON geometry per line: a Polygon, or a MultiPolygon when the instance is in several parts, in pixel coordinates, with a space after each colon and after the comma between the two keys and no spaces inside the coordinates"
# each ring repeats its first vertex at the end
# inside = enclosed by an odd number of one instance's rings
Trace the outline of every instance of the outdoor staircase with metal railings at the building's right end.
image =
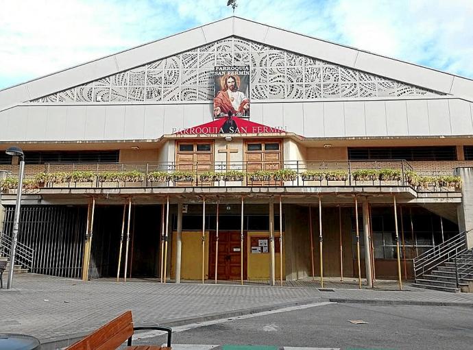
{"type": "Polygon", "coordinates": [[[473,252],[466,249],[465,232],[415,258],[414,273],[414,287],[473,292],[473,252]]]}

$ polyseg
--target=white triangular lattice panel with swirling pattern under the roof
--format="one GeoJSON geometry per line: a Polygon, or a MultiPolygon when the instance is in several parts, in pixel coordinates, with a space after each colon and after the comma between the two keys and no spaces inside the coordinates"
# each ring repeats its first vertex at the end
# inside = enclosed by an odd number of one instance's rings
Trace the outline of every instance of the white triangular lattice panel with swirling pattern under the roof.
{"type": "Polygon", "coordinates": [[[209,101],[213,68],[250,65],[252,99],[444,95],[315,58],[228,38],[36,99],[40,103],[209,101]]]}

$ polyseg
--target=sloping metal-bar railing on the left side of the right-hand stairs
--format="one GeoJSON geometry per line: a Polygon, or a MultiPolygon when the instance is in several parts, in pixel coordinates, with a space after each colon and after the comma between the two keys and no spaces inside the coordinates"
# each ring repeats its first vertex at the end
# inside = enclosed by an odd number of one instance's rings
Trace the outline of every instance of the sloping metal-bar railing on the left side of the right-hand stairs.
{"type": "Polygon", "coordinates": [[[466,234],[465,232],[460,232],[432,249],[417,255],[413,260],[414,276],[418,278],[432,271],[437,266],[451,262],[466,251],[466,234]]]}

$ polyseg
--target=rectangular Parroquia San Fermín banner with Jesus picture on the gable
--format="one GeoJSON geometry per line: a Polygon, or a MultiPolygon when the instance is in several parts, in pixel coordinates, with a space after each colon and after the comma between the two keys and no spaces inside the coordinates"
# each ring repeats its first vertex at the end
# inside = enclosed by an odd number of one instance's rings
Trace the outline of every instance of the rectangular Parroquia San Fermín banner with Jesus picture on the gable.
{"type": "Polygon", "coordinates": [[[213,116],[250,117],[250,66],[217,66],[213,116]]]}

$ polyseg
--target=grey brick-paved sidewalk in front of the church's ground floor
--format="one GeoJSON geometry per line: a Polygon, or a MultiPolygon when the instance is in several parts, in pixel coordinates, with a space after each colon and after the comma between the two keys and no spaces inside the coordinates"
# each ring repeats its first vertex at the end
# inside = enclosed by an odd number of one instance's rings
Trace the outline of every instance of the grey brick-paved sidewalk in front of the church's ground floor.
{"type": "Polygon", "coordinates": [[[473,294],[410,287],[402,292],[350,289],[357,286],[356,281],[346,284],[350,288],[332,291],[319,291],[317,283],[311,281],[301,282],[305,286],[285,288],[134,281],[82,282],[34,274],[17,275],[12,290],[0,290],[0,330],[31,334],[42,342],[53,342],[86,334],[125,310],[132,310],[136,324],[182,325],[329,299],[473,306],[473,294]]]}

